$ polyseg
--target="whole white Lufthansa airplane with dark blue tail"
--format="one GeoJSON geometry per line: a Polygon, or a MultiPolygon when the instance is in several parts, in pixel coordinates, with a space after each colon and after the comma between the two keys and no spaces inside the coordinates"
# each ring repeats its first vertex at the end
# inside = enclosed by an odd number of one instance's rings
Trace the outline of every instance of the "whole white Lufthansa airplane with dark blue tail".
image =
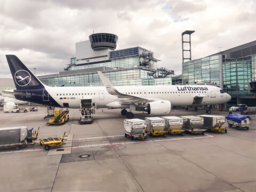
{"type": "Polygon", "coordinates": [[[172,106],[215,105],[231,99],[228,93],[212,85],[114,87],[100,71],[104,86],[51,87],[39,81],[15,55],[6,55],[6,59],[16,86],[14,97],[46,106],[80,108],[81,99],[91,98],[98,108],[120,108],[122,115],[133,118],[133,111],[168,115],[172,106]]]}

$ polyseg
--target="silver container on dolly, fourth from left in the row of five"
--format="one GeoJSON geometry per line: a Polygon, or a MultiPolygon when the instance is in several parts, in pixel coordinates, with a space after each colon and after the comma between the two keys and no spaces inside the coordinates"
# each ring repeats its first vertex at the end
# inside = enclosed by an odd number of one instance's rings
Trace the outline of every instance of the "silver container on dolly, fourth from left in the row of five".
{"type": "Polygon", "coordinates": [[[202,134],[206,129],[203,129],[204,118],[198,116],[180,116],[183,119],[183,130],[193,134],[202,134]]]}

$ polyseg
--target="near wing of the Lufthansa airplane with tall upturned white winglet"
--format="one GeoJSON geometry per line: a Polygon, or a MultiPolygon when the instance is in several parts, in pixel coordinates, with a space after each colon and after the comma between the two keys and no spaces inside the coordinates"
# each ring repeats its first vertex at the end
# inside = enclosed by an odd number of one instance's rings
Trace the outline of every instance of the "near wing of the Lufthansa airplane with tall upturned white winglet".
{"type": "Polygon", "coordinates": [[[151,100],[151,99],[137,97],[134,95],[120,93],[119,91],[116,90],[116,88],[110,83],[110,81],[100,71],[98,71],[98,74],[100,76],[102,83],[106,87],[107,92],[111,95],[115,95],[117,97],[116,101],[119,103],[124,103],[124,104],[134,103],[135,104],[135,103],[148,103],[150,101],[159,100],[159,99],[151,100]]]}

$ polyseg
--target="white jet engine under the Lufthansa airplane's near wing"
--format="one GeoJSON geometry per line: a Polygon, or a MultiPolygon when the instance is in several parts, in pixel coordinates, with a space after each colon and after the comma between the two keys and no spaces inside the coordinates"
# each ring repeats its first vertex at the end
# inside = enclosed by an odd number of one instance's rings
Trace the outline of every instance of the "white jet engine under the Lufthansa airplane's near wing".
{"type": "Polygon", "coordinates": [[[144,111],[151,115],[169,115],[171,113],[171,102],[167,100],[153,101],[148,103],[144,111]]]}

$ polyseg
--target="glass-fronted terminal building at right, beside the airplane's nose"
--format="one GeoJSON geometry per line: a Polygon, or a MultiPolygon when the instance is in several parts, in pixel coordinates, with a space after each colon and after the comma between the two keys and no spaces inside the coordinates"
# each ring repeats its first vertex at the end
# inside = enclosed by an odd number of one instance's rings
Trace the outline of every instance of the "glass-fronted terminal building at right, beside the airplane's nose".
{"type": "Polygon", "coordinates": [[[229,105],[256,106],[256,41],[182,63],[184,85],[214,84],[232,97],[229,105]]]}

